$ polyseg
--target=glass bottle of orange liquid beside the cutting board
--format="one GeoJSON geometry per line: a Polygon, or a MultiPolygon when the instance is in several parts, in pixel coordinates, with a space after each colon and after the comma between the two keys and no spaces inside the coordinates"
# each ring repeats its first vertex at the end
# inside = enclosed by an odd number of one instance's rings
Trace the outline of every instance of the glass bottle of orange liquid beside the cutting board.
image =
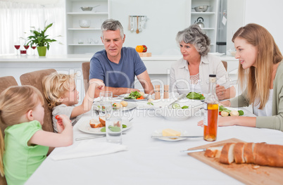
{"type": "Polygon", "coordinates": [[[216,75],[209,75],[208,96],[204,100],[203,108],[203,139],[215,141],[218,129],[218,97],[215,93],[216,75]]]}

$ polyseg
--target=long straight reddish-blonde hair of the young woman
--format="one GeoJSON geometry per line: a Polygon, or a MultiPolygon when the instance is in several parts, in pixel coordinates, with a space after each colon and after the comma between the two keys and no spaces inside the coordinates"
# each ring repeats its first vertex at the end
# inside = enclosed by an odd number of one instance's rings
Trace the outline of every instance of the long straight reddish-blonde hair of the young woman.
{"type": "Polygon", "coordinates": [[[256,67],[251,66],[244,70],[239,64],[239,82],[242,89],[244,89],[246,81],[248,82],[246,89],[249,102],[255,105],[260,104],[259,108],[263,109],[269,97],[273,65],[283,59],[282,53],[270,32],[260,25],[251,23],[240,27],[235,32],[232,42],[237,37],[245,39],[258,50],[256,67]]]}

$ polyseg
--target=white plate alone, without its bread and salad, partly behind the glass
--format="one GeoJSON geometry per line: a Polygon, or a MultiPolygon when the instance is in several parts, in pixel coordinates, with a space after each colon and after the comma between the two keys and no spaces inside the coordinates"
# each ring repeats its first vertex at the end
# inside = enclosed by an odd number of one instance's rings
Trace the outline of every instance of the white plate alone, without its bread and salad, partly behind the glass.
{"type": "MultiPolygon", "coordinates": [[[[77,129],[79,129],[82,132],[86,132],[89,134],[106,134],[106,132],[101,132],[100,130],[103,127],[100,128],[92,128],[89,125],[89,120],[91,120],[92,117],[84,117],[82,119],[80,119],[77,124],[77,129]]],[[[127,129],[130,129],[130,127],[132,127],[132,122],[129,122],[128,120],[122,120],[122,125],[127,125],[126,128],[122,128],[122,131],[124,132],[127,129]]]]}

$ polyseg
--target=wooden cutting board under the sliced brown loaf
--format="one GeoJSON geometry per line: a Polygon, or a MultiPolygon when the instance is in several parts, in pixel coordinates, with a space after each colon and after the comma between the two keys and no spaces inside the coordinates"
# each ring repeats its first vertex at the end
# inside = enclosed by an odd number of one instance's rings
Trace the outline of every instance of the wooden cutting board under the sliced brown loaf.
{"type": "MultiPolygon", "coordinates": [[[[213,142],[207,145],[198,146],[192,149],[208,148],[210,146],[222,146],[224,143],[244,142],[239,139],[227,139],[224,141],[213,142]]],[[[243,182],[244,184],[283,184],[283,167],[266,167],[260,166],[258,169],[253,169],[255,165],[241,164],[237,165],[234,162],[230,165],[225,165],[218,162],[218,159],[207,158],[203,152],[188,153],[192,157],[201,160],[201,162],[214,167],[221,172],[243,182]]]]}

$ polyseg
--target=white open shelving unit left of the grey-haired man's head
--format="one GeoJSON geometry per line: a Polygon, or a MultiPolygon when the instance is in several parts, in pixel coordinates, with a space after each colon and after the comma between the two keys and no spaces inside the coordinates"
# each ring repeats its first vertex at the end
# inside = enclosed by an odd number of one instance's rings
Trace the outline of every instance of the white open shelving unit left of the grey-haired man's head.
{"type": "Polygon", "coordinates": [[[101,24],[110,18],[109,0],[65,0],[67,53],[95,53],[104,49],[101,24]],[[99,5],[99,6],[98,6],[99,5]],[[84,6],[97,6],[82,11],[84,6]],[[80,27],[80,20],[89,20],[89,27],[80,27]]]}

